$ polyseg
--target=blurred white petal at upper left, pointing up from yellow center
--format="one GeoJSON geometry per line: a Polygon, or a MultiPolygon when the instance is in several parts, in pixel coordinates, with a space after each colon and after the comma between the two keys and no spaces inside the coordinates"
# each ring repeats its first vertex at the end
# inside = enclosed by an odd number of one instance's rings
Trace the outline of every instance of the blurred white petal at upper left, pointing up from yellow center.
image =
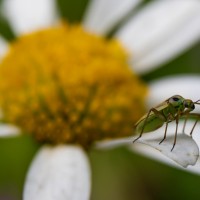
{"type": "Polygon", "coordinates": [[[4,0],[3,9],[17,34],[49,27],[57,16],[55,0],[4,0]]]}

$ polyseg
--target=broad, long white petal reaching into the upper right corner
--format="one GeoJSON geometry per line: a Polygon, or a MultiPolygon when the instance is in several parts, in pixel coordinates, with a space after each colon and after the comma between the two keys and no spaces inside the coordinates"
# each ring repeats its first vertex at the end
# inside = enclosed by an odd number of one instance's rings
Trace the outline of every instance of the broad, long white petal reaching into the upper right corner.
{"type": "Polygon", "coordinates": [[[200,38],[200,2],[153,1],[116,35],[134,70],[146,73],[191,47],[200,38]]]}

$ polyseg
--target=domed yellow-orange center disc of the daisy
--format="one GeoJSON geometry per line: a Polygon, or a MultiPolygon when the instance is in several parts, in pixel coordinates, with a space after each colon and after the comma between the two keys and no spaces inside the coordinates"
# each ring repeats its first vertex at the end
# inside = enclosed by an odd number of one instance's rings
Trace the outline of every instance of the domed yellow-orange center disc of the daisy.
{"type": "Polygon", "coordinates": [[[7,122],[37,140],[89,145],[132,134],[146,86],[118,42],[61,25],[22,36],[0,66],[7,122]]]}

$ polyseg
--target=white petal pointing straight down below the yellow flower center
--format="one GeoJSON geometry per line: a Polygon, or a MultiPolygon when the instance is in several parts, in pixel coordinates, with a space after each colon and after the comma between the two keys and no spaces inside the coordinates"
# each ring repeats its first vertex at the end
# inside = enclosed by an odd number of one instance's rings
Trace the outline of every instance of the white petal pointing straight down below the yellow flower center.
{"type": "Polygon", "coordinates": [[[88,200],[90,167],[78,146],[45,146],[29,169],[24,200],[88,200]]]}

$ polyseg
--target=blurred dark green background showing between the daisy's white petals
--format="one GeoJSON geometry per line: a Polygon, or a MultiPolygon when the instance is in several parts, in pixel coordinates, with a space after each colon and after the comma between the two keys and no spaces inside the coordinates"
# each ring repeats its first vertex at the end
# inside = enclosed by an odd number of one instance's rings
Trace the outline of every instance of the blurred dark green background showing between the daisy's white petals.
{"type": "MultiPolygon", "coordinates": [[[[57,0],[57,6],[63,18],[79,22],[88,2],[57,0]]],[[[9,41],[15,38],[1,12],[0,34],[9,41]]],[[[200,42],[142,79],[149,82],[171,74],[199,74],[199,53],[200,42]]],[[[27,136],[0,139],[0,200],[22,198],[26,171],[38,148],[38,144],[27,136]]],[[[89,157],[93,181],[91,200],[200,199],[200,176],[168,167],[126,148],[92,150],[89,157]]]]}

